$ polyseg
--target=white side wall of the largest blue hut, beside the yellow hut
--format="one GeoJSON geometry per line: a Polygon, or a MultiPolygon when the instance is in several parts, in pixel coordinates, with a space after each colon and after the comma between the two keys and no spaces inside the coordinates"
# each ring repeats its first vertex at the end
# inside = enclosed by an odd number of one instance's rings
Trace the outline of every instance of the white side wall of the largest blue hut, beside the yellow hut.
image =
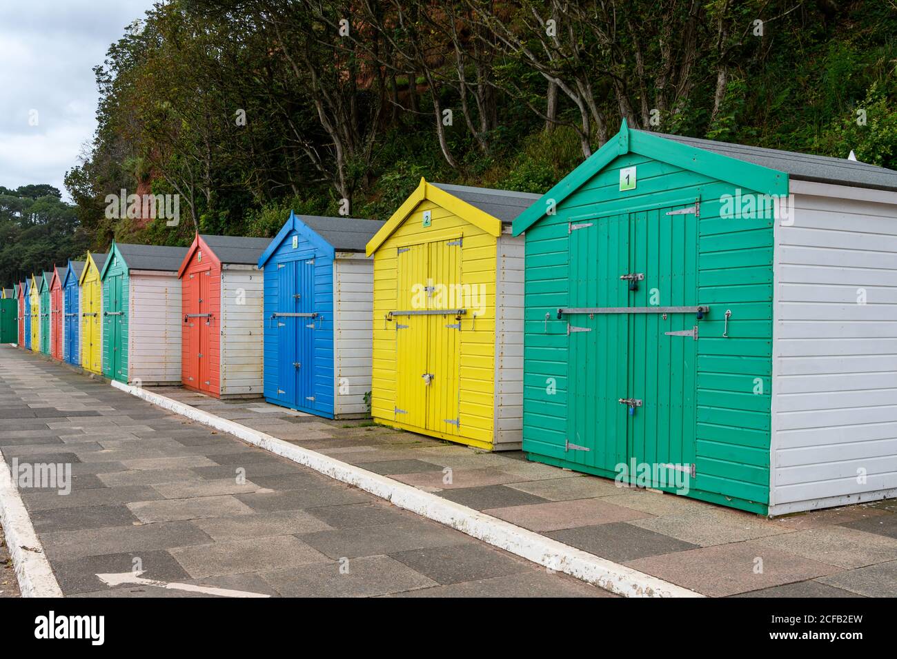
{"type": "Polygon", "coordinates": [[[374,260],[337,252],[334,259],[334,416],[366,417],[374,317],[374,260]],[[343,392],[343,393],[341,393],[343,392]]]}

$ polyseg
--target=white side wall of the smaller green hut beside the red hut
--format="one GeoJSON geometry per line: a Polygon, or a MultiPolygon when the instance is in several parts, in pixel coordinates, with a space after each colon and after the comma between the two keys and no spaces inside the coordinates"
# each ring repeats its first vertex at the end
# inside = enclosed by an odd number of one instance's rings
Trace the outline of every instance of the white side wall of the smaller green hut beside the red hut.
{"type": "Polygon", "coordinates": [[[178,273],[129,273],[127,379],[180,382],[181,282],[178,273]]]}

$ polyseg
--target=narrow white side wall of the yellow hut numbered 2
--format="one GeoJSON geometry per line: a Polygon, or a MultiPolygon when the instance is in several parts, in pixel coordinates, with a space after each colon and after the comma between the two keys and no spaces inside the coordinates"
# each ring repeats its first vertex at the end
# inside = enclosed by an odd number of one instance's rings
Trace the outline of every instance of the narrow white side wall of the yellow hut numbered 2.
{"type": "Polygon", "coordinates": [[[523,258],[524,237],[498,239],[495,279],[494,450],[518,449],[523,441],[523,258]]]}

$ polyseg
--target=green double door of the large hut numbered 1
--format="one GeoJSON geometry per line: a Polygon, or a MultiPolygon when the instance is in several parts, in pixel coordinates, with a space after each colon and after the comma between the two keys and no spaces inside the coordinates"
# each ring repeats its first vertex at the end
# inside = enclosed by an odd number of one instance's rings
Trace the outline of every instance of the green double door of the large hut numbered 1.
{"type": "Polygon", "coordinates": [[[570,225],[570,308],[595,309],[565,316],[571,462],[613,472],[634,460],[652,474],[694,462],[698,219],[689,210],[570,225]]]}

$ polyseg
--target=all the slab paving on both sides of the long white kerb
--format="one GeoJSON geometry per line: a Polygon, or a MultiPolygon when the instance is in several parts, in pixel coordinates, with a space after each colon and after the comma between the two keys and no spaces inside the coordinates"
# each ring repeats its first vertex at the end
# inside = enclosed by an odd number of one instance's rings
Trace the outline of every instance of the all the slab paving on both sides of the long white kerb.
{"type": "MultiPolygon", "coordinates": [[[[893,499],[768,520],[620,489],[518,452],[483,453],[260,400],[153,391],[701,594],[897,594],[893,499]]],[[[7,462],[73,464],[71,495],[23,495],[66,594],[109,594],[96,575],[127,572],[135,558],[144,577],[253,593],[606,594],[6,346],[0,450],[7,462]]]]}

